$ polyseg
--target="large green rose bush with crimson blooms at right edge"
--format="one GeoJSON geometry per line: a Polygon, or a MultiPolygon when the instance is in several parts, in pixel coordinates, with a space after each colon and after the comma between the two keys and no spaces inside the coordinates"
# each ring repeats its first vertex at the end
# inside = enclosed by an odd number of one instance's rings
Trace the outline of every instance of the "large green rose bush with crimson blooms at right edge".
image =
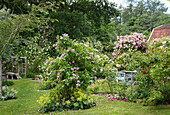
{"type": "Polygon", "coordinates": [[[169,70],[170,53],[169,41],[153,42],[145,53],[135,52],[133,61],[136,63],[137,84],[133,93],[127,95],[128,100],[140,99],[144,105],[170,103],[169,70]],[[159,43],[161,42],[161,43],[159,43]],[[158,46],[158,47],[157,47],[158,46]]]}

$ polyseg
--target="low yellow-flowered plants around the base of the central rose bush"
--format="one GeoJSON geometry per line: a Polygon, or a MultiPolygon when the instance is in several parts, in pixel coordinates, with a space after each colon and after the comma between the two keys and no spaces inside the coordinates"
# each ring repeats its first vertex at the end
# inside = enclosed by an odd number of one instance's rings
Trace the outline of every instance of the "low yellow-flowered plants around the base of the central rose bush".
{"type": "Polygon", "coordinates": [[[52,91],[49,95],[41,96],[40,100],[37,100],[41,104],[41,112],[88,109],[96,105],[93,98],[84,94],[81,90],[70,93],[69,100],[62,95],[56,94],[56,92],[58,93],[57,90],[52,91]]]}

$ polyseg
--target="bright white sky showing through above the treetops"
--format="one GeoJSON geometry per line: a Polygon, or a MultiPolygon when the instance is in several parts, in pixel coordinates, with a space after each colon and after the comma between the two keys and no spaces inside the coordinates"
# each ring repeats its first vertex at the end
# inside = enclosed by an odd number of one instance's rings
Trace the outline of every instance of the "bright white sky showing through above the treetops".
{"type": "MultiPolygon", "coordinates": [[[[138,1],[138,0],[137,0],[138,1]]],[[[167,0],[160,0],[162,3],[165,3],[165,6],[168,7],[168,10],[166,13],[170,14],[170,2],[168,2],[167,0]]],[[[115,2],[116,4],[118,4],[118,6],[120,4],[122,4],[124,7],[126,6],[126,2],[125,0],[109,0],[109,2],[115,2]]]]}

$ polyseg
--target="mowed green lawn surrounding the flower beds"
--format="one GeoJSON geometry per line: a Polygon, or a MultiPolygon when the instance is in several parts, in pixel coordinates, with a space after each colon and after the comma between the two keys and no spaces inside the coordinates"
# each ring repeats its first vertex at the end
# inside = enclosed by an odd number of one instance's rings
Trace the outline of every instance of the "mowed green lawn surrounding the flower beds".
{"type": "MultiPolygon", "coordinates": [[[[37,99],[48,91],[39,91],[40,83],[29,79],[15,80],[14,85],[18,91],[17,99],[0,101],[0,115],[36,115],[40,105],[37,99]]],[[[97,99],[97,96],[94,96],[97,99]]],[[[99,96],[97,106],[79,111],[52,112],[56,115],[170,115],[170,105],[142,106],[137,103],[108,101],[99,96]]]]}

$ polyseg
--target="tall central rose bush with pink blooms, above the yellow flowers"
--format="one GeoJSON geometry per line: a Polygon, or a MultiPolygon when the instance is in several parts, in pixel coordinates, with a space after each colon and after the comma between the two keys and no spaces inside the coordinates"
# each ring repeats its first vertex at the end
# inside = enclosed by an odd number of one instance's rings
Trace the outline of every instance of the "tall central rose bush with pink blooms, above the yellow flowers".
{"type": "Polygon", "coordinates": [[[42,67],[44,81],[51,81],[61,90],[71,88],[86,89],[93,82],[98,69],[95,50],[69,39],[67,34],[53,45],[58,53],[49,58],[42,67]]]}

